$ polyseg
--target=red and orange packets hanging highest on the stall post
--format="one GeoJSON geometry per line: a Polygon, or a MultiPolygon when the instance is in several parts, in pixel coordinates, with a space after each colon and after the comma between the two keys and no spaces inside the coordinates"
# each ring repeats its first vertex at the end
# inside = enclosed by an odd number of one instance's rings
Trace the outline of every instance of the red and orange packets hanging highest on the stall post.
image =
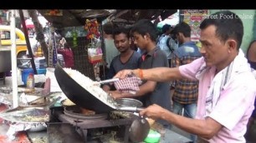
{"type": "Polygon", "coordinates": [[[97,22],[97,19],[86,19],[84,29],[87,31],[87,39],[100,37],[99,23],[97,22]]]}

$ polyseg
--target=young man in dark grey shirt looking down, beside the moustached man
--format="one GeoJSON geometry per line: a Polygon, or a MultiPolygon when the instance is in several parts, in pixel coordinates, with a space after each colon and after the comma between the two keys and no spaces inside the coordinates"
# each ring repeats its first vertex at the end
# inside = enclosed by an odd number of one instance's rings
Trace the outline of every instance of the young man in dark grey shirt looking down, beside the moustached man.
{"type": "MultiPolygon", "coordinates": [[[[139,68],[169,67],[166,54],[156,47],[156,27],[150,20],[142,19],[131,28],[135,44],[143,54],[140,58],[139,68]]],[[[157,104],[166,110],[171,110],[171,96],[168,82],[143,81],[140,90],[136,94],[129,92],[111,91],[114,98],[137,98],[143,102],[143,106],[157,104]]],[[[166,121],[157,121],[164,127],[170,128],[166,121]]]]}

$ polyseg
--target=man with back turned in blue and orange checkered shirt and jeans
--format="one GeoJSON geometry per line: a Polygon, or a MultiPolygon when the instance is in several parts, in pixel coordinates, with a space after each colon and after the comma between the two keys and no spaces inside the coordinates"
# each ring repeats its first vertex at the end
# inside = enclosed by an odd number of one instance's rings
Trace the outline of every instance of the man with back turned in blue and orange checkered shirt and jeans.
{"type": "MultiPolygon", "coordinates": [[[[202,57],[195,42],[190,39],[191,28],[185,22],[174,27],[173,32],[180,46],[174,51],[173,67],[188,64],[198,57],[202,57]]],[[[194,118],[197,111],[198,81],[182,79],[175,81],[175,90],[172,96],[173,112],[179,114],[184,109],[184,116],[194,118]]],[[[196,136],[191,136],[196,141],[196,136]]]]}

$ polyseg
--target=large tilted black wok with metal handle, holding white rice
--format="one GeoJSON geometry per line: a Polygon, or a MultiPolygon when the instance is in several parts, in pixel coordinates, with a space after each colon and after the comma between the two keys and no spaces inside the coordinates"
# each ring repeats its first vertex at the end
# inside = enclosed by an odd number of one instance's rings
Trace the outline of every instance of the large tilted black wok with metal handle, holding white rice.
{"type": "MultiPolygon", "coordinates": [[[[100,101],[97,97],[90,94],[89,91],[85,90],[79,85],[67,72],[57,63],[54,71],[54,75],[59,83],[59,87],[64,94],[73,101],[77,106],[95,111],[96,113],[107,113],[113,110],[119,111],[141,111],[142,109],[138,106],[116,106],[112,108],[108,106],[104,101],[100,101]]],[[[116,102],[118,105],[118,103],[116,102]]]]}

